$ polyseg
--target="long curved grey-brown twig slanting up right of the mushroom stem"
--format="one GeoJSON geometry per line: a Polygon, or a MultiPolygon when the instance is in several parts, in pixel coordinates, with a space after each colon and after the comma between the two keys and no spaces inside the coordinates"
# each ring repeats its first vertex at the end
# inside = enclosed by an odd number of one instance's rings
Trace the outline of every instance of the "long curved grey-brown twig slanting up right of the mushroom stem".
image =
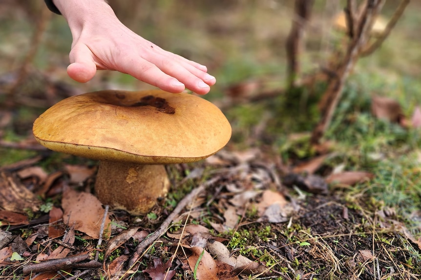
{"type": "Polygon", "coordinates": [[[184,209],[184,207],[186,207],[193,200],[193,198],[195,198],[199,193],[203,192],[206,189],[206,187],[214,184],[217,180],[219,180],[219,178],[214,177],[209,181],[201,184],[199,187],[193,189],[188,195],[186,195],[174,208],[171,214],[168,215],[167,219],[165,219],[161,226],[137,245],[136,251],[133,253],[130,260],[128,261],[128,267],[132,267],[135,265],[135,263],[142,257],[142,254],[144,253],[145,249],[165,233],[165,231],[168,229],[168,226],[173,222],[173,219],[177,217],[177,215],[184,209]]]}

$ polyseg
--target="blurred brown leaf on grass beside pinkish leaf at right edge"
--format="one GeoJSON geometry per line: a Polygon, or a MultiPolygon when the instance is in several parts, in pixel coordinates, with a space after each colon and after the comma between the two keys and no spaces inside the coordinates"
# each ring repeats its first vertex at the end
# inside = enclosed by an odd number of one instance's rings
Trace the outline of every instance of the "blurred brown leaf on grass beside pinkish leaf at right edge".
{"type": "Polygon", "coordinates": [[[398,101],[390,97],[373,96],[371,112],[379,119],[399,123],[403,117],[402,109],[398,101]]]}

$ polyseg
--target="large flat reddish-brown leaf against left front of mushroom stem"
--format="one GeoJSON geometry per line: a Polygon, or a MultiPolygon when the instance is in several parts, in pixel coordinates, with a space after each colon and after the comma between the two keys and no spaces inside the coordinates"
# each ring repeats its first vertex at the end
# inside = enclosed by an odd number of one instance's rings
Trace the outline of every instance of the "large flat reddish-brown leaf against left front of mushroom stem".
{"type": "MultiPolygon", "coordinates": [[[[74,226],[90,237],[99,238],[101,223],[105,210],[101,202],[87,192],[77,192],[68,188],[63,192],[62,207],[64,210],[63,221],[68,226],[74,226]]],[[[108,217],[105,219],[104,232],[110,232],[108,217]]],[[[109,236],[105,235],[105,239],[109,236]]]]}

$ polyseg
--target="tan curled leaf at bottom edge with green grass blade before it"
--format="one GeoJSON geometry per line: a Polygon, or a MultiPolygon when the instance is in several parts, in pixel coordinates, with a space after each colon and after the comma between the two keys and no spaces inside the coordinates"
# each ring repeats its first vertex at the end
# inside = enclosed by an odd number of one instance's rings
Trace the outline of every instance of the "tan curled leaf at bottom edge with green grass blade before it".
{"type": "Polygon", "coordinates": [[[201,257],[196,270],[197,280],[218,280],[218,268],[212,256],[202,247],[190,247],[192,254],[189,256],[189,266],[194,271],[196,263],[201,257]]]}

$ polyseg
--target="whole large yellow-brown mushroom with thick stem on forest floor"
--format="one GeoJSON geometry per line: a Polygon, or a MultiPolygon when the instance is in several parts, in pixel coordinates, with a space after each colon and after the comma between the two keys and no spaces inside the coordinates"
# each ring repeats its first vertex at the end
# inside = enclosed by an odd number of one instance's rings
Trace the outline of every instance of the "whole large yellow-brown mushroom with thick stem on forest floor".
{"type": "Polygon", "coordinates": [[[209,157],[228,143],[231,126],[192,94],[99,91],[55,104],[35,120],[33,133],[48,149],[100,160],[99,200],[139,215],[168,192],[163,164],[209,157]]]}

